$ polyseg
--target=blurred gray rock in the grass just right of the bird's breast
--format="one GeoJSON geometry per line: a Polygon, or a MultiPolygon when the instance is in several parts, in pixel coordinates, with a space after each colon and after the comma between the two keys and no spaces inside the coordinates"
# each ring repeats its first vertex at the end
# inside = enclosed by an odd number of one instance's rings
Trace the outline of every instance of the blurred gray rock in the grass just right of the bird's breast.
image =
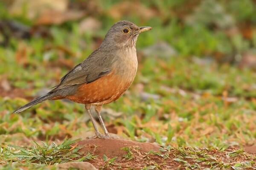
{"type": "Polygon", "coordinates": [[[177,55],[177,51],[172,48],[167,42],[157,42],[147,48],[141,50],[145,56],[157,56],[162,58],[169,58],[177,55]]]}

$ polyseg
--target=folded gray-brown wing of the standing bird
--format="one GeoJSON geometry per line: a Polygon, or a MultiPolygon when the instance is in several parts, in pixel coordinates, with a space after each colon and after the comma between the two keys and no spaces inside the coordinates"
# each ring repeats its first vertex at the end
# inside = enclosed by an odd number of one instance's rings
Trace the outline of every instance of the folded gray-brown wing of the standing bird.
{"type": "Polygon", "coordinates": [[[98,56],[99,54],[93,53],[79,65],[76,65],[64,77],[61,82],[52,91],[67,88],[73,85],[80,85],[90,83],[106,76],[111,72],[111,63],[106,62],[108,56],[98,56]]]}

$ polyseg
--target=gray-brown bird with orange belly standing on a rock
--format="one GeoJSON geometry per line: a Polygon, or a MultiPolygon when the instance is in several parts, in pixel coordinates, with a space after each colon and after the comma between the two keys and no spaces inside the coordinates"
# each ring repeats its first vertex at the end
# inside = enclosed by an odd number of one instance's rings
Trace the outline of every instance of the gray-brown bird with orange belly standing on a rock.
{"type": "Polygon", "coordinates": [[[99,48],[67,72],[58,85],[13,113],[25,111],[45,100],[69,99],[84,104],[93,123],[96,138],[110,139],[111,136],[100,113],[102,105],[118,99],[134,81],[138,67],[137,38],[140,33],[151,29],[152,27],[139,27],[126,20],[115,23],[99,48]],[[96,120],[91,114],[92,105],[95,106],[104,134],[99,132],[96,120]]]}

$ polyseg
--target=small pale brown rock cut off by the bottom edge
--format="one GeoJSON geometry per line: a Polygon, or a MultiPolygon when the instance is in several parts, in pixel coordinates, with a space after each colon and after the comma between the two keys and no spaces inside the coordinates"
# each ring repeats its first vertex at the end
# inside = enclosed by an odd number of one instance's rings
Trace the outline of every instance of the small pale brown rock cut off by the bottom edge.
{"type": "Polygon", "coordinates": [[[70,170],[70,169],[79,169],[79,170],[98,170],[89,162],[67,162],[58,164],[58,170],[70,170]]]}

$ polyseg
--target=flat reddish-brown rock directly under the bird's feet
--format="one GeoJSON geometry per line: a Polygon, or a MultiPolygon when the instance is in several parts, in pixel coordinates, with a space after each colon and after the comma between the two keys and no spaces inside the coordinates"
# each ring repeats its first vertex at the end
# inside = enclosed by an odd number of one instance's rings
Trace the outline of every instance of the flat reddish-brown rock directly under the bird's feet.
{"type": "Polygon", "coordinates": [[[108,158],[119,157],[122,158],[126,153],[125,150],[121,150],[123,147],[137,146],[140,148],[140,152],[148,153],[149,151],[159,152],[160,146],[154,143],[139,143],[135,141],[125,139],[87,139],[78,142],[82,147],[80,152],[87,154],[88,152],[94,155],[102,157],[104,154],[108,158]]]}

